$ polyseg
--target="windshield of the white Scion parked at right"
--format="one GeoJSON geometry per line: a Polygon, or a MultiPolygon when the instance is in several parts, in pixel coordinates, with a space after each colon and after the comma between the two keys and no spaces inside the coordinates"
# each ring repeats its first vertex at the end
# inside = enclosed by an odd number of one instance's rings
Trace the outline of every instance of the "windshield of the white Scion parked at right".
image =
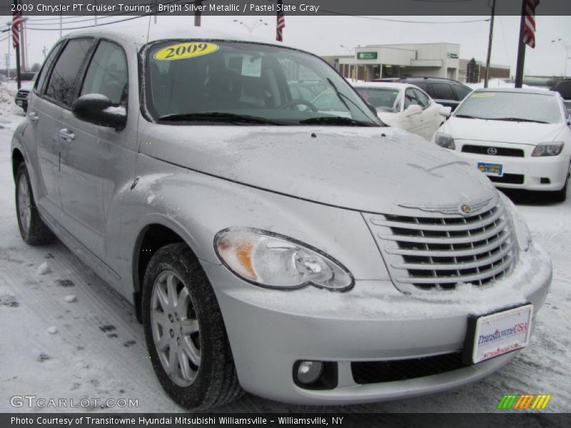
{"type": "Polygon", "coordinates": [[[559,123],[561,111],[550,93],[473,92],[454,116],[497,121],[559,123]]]}

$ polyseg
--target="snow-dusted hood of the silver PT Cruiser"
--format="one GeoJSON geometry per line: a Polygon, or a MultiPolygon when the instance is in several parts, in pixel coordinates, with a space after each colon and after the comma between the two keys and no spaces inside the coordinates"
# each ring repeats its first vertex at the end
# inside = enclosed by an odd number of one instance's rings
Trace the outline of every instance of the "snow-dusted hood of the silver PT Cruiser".
{"type": "Polygon", "coordinates": [[[370,212],[450,205],[494,192],[453,152],[396,128],[166,126],[148,123],[143,155],[263,190],[370,212]]]}

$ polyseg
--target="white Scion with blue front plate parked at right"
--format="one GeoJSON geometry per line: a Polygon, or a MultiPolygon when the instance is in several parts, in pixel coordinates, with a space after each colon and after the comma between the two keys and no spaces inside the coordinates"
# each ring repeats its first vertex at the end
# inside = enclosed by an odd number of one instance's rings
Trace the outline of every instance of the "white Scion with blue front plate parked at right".
{"type": "Polygon", "coordinates": [[[571,173],[571,119],[559,93],[477,89],[435,133],[498,187],[549,190],[565,200],[571,173]]]}

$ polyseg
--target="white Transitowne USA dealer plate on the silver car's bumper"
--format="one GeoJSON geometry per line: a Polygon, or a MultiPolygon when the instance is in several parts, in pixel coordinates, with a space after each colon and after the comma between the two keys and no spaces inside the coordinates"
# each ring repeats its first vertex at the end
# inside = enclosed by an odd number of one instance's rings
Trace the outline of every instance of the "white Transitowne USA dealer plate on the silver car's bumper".
{"type": "Polygon", "coordinates": [[[532,318],[533,305],[525,305],[471,319],[473,364],[527,346],[532,318]]]}

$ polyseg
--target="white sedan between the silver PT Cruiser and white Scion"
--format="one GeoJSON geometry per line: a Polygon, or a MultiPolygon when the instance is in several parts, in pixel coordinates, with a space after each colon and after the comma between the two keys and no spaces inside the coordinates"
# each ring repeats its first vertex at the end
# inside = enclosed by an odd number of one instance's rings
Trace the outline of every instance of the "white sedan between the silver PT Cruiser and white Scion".
{"type": "Polygon", "coordinates": [[[422,89],[408,83],[354,83],[353,87],[377,109],[383,123],[427,140],[450,116],[450,107],[435,103],[422,89]]]}

